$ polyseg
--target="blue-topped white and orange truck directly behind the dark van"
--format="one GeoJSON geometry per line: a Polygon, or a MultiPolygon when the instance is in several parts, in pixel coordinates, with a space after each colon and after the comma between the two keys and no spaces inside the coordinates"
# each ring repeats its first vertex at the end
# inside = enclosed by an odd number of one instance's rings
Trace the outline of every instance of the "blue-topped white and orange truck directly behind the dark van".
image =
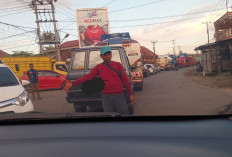
{"type": "Polygon", "coordinates": [[[101,46],[122,46],[128,57],[134,88],[143,90],[143,71],[141,46],[138,41],[131,39],[129,32],[104,34],[101,37],[101,46]]]}

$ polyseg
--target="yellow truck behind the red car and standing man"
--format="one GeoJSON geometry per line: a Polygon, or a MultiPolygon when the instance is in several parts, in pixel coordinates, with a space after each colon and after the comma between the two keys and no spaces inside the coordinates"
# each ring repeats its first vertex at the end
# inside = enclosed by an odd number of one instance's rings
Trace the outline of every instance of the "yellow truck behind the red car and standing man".
{"type": "Polygon", "coordinates": [[[40,57],[1,57],[0,60],[9,66],[19,79],[24,71],[29,70],[29,64],[33,64],[37,70],[53,70],[63,75],[67,75],[67,65],[65,62],[56,62],[47,56],[40,57]]]}

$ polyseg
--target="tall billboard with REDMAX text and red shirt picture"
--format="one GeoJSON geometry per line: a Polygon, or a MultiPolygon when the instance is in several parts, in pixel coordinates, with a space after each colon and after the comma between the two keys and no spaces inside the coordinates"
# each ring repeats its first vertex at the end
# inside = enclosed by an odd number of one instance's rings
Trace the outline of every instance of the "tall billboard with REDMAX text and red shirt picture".
{"type": "Polygon", "coordinates": [[[103,34],[109,33],[107,8],[77,9],[79,47],[98,45],[103,34]]]}

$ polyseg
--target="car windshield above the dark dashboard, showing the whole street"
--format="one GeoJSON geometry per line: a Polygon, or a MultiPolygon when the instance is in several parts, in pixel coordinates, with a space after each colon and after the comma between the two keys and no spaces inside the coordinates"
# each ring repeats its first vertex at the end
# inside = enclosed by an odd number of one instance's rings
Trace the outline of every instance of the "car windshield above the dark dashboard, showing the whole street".
{"type": "Polygon", "coordinates": [[[231,114],[231,5],[2,0],[0,113],[231,114]]]}

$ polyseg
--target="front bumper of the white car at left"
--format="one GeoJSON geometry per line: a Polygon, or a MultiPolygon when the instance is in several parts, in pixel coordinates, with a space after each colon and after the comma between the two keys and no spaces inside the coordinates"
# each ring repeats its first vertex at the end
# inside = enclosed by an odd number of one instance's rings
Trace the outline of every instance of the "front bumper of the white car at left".
{"type": "Polygon", "coordinates": [[[24,112],[32,112],[32,111],[35,111],[35,109],[31,100],[29,100],[24,106],[10,105],[0,108],[0,112],[24,113],[24,112]]]}

